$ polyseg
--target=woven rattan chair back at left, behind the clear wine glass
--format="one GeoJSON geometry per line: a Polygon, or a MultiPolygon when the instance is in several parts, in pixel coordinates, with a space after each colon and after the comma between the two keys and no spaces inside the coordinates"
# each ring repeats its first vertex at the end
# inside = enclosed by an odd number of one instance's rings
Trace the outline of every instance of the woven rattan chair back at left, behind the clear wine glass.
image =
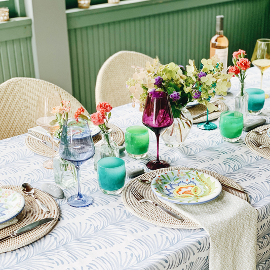
{"type": "Polygon", "coordinates": [[[28,132],[35,123],[38,94],[58,91],[71,102],[71,113],[82,104],[62,88],[33,78],[13,78],[0,85],[0,140],[28,132]]]}

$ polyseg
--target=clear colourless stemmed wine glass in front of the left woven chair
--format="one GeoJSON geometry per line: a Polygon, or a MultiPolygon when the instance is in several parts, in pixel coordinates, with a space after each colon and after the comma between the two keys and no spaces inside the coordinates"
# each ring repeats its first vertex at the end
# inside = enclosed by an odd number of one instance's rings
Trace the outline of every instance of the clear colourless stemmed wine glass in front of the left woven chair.
{"type": "MultiPolygon", "coordinates": [[[[61,96],[59,92],[43,92],[38,95],[38,100],[35,108],[35,121],[36,124],[51,135],[52,141],[52,153],[54,158],[54,132],[59,129],[59,125],[56,121],[56,116],[51,112],[52,108],[59,106],[61,102],[61,96]]],[[[43,166],[47,169],[53,169],[53,159],[47,160],[43,163],[43,166]]]]}

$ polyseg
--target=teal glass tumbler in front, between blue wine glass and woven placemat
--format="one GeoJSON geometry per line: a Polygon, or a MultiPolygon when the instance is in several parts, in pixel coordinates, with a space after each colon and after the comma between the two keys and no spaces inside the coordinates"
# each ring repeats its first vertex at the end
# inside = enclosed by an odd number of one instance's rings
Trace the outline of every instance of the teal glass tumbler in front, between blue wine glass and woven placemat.
{"type": "Polygon", "coordinates": [[[97,180],[104,194],[120,194],[126,180],[125,162],[115,157],[99,160],[97,163],[97,180]]]}

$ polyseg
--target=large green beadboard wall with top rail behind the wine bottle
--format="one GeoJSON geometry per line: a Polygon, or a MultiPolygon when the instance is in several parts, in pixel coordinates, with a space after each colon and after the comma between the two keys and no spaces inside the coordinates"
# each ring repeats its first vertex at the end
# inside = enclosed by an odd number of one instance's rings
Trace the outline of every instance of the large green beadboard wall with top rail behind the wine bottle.
{"type": "Polygon", "coordinates": [[[66,11],[73,95],[89,112],[95,110],[98,71],[118,51],[157,55],[161,63],[186,65],[189,58],[199,63],[209,57],[215,16],[221,14],[229,56],[241,48],[251,57],[257,38],[270,37],[269,0],[124,2],[66,11]]]}

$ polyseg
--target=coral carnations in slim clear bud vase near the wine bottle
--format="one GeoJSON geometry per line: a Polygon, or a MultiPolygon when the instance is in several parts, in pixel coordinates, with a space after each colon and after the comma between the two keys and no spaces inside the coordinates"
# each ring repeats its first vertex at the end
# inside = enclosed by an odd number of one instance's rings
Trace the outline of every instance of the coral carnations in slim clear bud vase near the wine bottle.
{"type": "Polygon", "coordinates": [[[229,66],[228,73],[237,76],[240,82],[240,92],[236,95],[235,110],[243,113],[244,120],[248,117],[248,93],[245,91],[246,71],[250,68],[250,61],[245,58],[246,52],[239,49],[233,53],[234,66],[229,66]]]}

